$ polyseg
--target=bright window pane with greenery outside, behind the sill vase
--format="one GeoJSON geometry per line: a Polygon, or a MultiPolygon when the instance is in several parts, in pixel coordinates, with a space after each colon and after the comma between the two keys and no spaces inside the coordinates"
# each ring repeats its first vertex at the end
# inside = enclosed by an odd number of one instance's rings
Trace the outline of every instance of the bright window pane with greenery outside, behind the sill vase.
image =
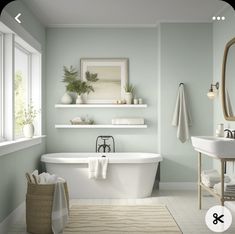
{"type": "Polygon", "coordinates": [[[15,138],[22,136],[24,110],[29,103],[29,54],[15,46],[15,138]]]}

